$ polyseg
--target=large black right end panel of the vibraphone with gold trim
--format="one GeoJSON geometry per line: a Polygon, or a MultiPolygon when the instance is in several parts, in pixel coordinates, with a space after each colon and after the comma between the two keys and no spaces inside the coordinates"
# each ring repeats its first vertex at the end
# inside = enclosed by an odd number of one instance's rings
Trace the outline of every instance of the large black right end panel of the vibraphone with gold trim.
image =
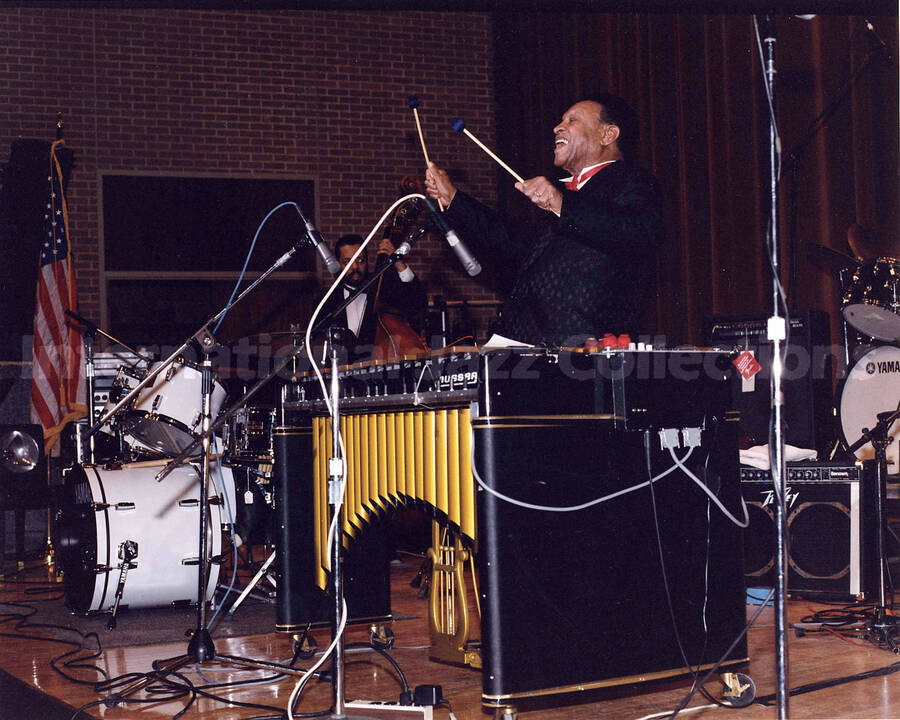
{"type": "MultiPolygon", "coordinates": [[[[674,677],[687,671],[685,655],[711,667],[746,622],[741,531],[717,508],[707,521],[708,496],[675,467],[660,431],[739,514],[729,356],[501,360],[483,358],[472,418],[482,703],[674,677]],[[651,474],[660,476],[652,494],[651,474]]],[[[725,663],[746,658],[742,639],[725,663]]]]}

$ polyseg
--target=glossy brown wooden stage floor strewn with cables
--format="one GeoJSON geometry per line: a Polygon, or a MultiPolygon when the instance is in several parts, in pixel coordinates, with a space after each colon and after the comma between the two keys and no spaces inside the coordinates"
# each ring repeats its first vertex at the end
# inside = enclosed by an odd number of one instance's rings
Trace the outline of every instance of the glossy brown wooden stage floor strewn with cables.
{"type": "MultiPolygon", "coordinates": [[[[392,655],[406,673],[410,687],[423,684],[441,685],[444,697],[452,703],[452,710],[458,720],[482,720],[490,715],[481,707],[480,673],[466,668],[434,663],[428,660],[428,623],[426,600],[416,597],[410,587],[419,561],[406,558],[392,565],[393,610],[401,619],[393,623],[396,645],[392,655]]],[[[47,568],[37,564],[24,574],[7,574],[7,582],[0,585],[0,600],[3,603],[19,601],[25,605],[35,605],[47,601],[54,594],[61,595],[61,587],[33,585],[43,591],[29,590],[23,580],[37,583],[48,579],[47,568]],[[49,587],[49,594],[47,588],[49,587]]],[[[61,601],[60,601],[61,602],[61,601]]],[[[805,601],[792,600],[789,603],[789,619],[798,621],[804,615],[823,607],[805,601]]],[[[754,611],[748,606],[748,617],[754,611]]],[[[103,650],[98,657],[85,659],[81,667],[69,667],[67,672],[78,678],[76,683],[63,678],[51,667],[51,658],[72,649],[58,641],[47,641],[49,637],[41,628],[16,629],[15,621],[9,614],[22,613],[21,606],[4,604],[0,607],[5,621],[0,627],[4,634],[0,644],[0,718],[72,718],[75,710],[102,701],[110,691],[97,692],[92,683],[101,679],[91,665],[102,668],[110,677],[123,673],[145,673],[152,669],[154,660],[183,655],[187,641],[157,645],[139,645],[103,650]]],[[[134,611],[140,612],[140,611],[134,611]]],[[[238,611],[240,612],[240,610],[238,611]]],[[[659,608],[665,613],[665,608],[659,608]]],[[[771,608],[766,608],[756,625],[749,631],[750,664],[745,672],[754,680],[757,696],[765,697],[775,692],[774,685],[774,626],[771,608]]],[[[623,632],[641,632],[639,623],[623,628],[623,632]]],[[[216,638],[219,655],[235,655],[269,662],[286,662],[292,652],[289,636],[274,631],[247,637],[216,638]]],[[[351,627],[347,632],[347,642],[360,642],[368,638],[365,627],[351,627]]],[[[320,647],[327,644],[327,630],[319,630],[317,639],[320,647]]],[[[790,658],[790,684],[797,688],[808,683],[842,678],[869,672],[892,665],[900,666],[900,656],[878,649],[865,641],[848,640],[831,633],[811,633],[804,637],[788,638],[790,658]]],[[[602,652],[598,648],[598,652],[602,652]]],[[[86,654],[86,653],[83,653],[86,654]]],[[[308,666],[310,661],[300,661],[298,666],[308,666]]],[[[227,663],[214,661],[205,663],[200,672],[189,665],[182,668],[183,677],[195,686],[211,683],[246,682],[253,678],[265,678],[271,673],[248,670],[227,663]],[[201,675],[202,673],[202,675],[201,675]]],[[[372,652],[348,651],[345,674],[347,699],[396,701],[400,685],[391,667],[380,656],[372,652]]],[[[282,677],[257,684],[231,688],[210,689],[223,700],[197,698],[184,718],[245,719],[280,717],[284,712],[288,697],[296,683],[296,677],[282,677]],[[253,703],[257,707],[239,707],[231,703],[253,703]],[[271,709],[266,709],[268,706],[271,709]]],[[[720,697],[721,685],[714,678],[708,689],[720,697]]],[[[570,698],[565,705],[520,708],[522,720],[616,720],[618,718],[644,718],[653,713],[671,711],[678,705],[690,688],[687,680],[668,681],[653,686],[619,687],[591,695],[581,694],[570,698]]],[[[78,715],[79,718],[173,718],[186,705],[188,698],[160,699],[160,696],[135,694],[128,702],[117,707],[93,705],[78,715]],[[150,702],[147,702],[150,700],[150,702]]],[[[560,702],[557,699],[557,702],[560,702]]],[[[303,693],[297,706],[298,713],[327,711],[331,704],[331,684],[313,681],[303,693]]],[[[689,708],[707,705],[708,701],[699,695],[694,697],[689,708]]],[[[286,715],[284,715],[286,717],[286,715]]],[[[764,706],[753,704],[743,709],[711,707],[693,709],[679,717],[712,718],[734,717],[756,720],[776,717],[774,704],[764,706]]],[[[897,718],[900,717],[900,678],[890,674],[880,677],[839,684],[827,689],[798,695],[791,698],[789,716],[793,718],[897,718]]],[[[435,709],[438,720],[449,718],[446,707],[435,709]]]]}

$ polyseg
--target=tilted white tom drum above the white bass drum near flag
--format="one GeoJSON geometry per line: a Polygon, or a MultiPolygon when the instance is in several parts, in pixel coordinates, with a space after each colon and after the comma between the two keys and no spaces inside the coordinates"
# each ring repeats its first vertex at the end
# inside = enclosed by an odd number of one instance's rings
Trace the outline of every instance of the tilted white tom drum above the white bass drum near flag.
{"type": "MultiPolygon", "coordinates": [[[[151,371],[159,367],[154,363],[151,371]]],[[[125,413],[123,425],[147,447],[178,455],[199,436],[203,420],[203,375],[190,365],[173,363],[144,388],[125,413]]],[[[210,415],[215,418],[225,403],[225,388],[213,382],[210,415]]],[[[201,452],[197,448],[197,453],[201,452]]]]}

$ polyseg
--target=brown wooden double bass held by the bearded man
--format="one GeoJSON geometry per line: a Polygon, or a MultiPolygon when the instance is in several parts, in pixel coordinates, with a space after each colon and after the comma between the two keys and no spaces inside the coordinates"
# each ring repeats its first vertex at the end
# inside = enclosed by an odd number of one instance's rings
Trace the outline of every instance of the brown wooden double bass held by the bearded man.
{"type": "MultiPolygon", "coordinates": [[[[400,189],[402,195],[412,192],[424,194],[419,179],[410,175],[402,178],[400,189]]],[[[405,240],[423,235],[425,233],[425,224],[422,222],[423,215],[424,209],[418,200],[404,204],[394,213],[391,223],[385,228],[384,237],[389,239],[396,248],[405,240]]],[[[387,255],[379,253],[375,260],[375,267],[378,268],[385,262],[387,262],[387,255]]],[[[396,360],[404,355],[428,352],[428,345],[409,324],[400,309],[390,305],[381,297],[383,277],[378,279],[378,287],[375,291],[373,355],[387,361],[396,360]]]]}

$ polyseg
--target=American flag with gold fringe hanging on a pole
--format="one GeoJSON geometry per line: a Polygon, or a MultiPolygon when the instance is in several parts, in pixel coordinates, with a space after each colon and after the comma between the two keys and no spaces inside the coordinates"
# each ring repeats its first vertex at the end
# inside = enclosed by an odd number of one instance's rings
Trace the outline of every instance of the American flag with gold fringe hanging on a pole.
{"type": "Polygon", "coordinates": [[[31,376],[31,421],[44,427],[49,452],[63,426],[87,413],[87,382],[81,336],[66,324],[74,311],[75,275],[69,253],[69,216],[63,196],[62,168],[56,156],[63,144],[50,147],[47,212],[34,311],[31,376]]]}

